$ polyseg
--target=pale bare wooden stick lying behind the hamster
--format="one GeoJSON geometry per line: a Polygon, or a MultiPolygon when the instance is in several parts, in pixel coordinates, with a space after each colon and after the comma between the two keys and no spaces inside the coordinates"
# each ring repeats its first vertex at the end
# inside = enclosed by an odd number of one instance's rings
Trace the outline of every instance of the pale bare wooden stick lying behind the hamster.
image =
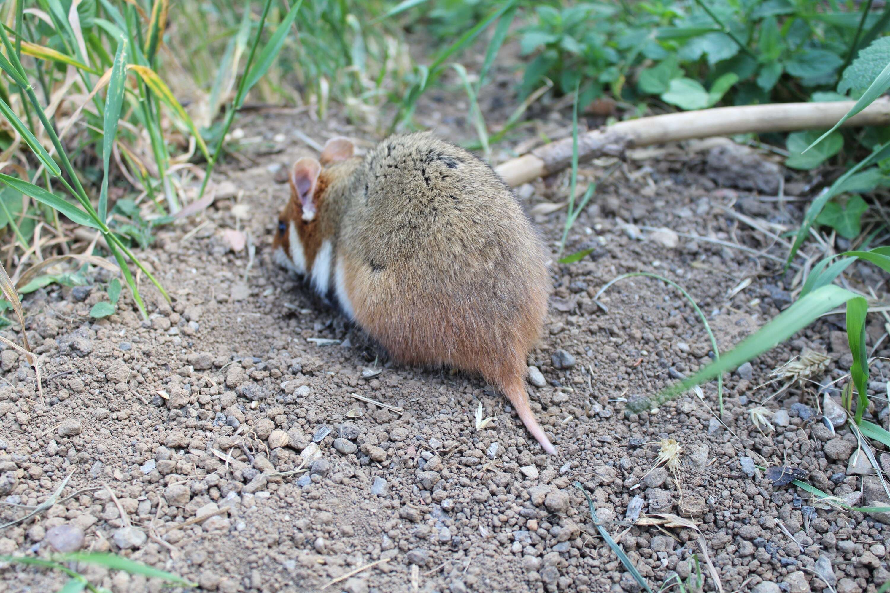
{"type": "MultiPolygon", "coordinates": [[[[794,132],[829,128],[854,106],[854,101],[776,103],[668,113],[619,122],[578,136],[578,162],[599,156],[620,156],[628,148],[730,136],[740,133],[794,132]]],[[[890,100],[876,100],[846,120],[845,126],[890,124],[890,100]]],[[[571,138],[563,138],[499,164],[495,171],[510,187],[562,171],[571,164],[571,138]]]]}

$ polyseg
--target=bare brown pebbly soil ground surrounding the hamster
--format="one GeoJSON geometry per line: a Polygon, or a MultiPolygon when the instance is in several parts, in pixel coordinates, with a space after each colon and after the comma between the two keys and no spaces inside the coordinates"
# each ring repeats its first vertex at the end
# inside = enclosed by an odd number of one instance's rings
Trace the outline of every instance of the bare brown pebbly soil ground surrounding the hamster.
{"type": "MultiPolygon", "coordinates": [[[[508,115],[503,103],[497,92],[483,97],[492,125],[508,115]]],[[[446,139],[473,136],[457,92],[433,92],[417,113],[446,139]]],[[[25,361],[0,352],[0,496],[33,506],[73,475],[52,509],[0,531],[0,554],[110,550],[226,592],[317,591],[373,563],[325,590],[636,593],[577,482],[653,589],[676,573],[684,584],[692,574],[694,590],[699,570],[704,589],[727,593],[874,592],[890,577],[890,514],[814,503],[763,471],[801,469],[852,506],[887,500],[876,477],[848,469],[850,430],[832,435],[821,421],[817,391],[851,359],[842,315],[726,375],[720,421],[714,383],[703,398],[689,393],[649,413],[627,408],[713,356],[687,301],[647,277],[594,300],[619,274],[667,276],[698,301],[728,349],[791,300],[798,269],[782,273],[787,248],[775,235],[800,220],[809,178],[720,141],[582,166],[582,187],[611,174],[566,252],[595,251],[552,264],[546,333],[529,359],[539,371],[532,406],[559,450],[549,457],[481,379],[378,358],[357,329],[271,262],[287,199],[281,167],[313,154],[297,132],[320,142],[335,132],[379,139],[337,116],[322,124],[282,111],[243,121],[240,167],[220,172],[215,204],[162,228],[142,252],[172,303],[143,278],[148,321],[128,294],[116,315],[95,321],[88,312],[106,299],[104,271],[92,290],[50,285],[26,299],[45,401],[25,361]],[[247,231],[255,257],[249,247],[231,251],[231,229],[247,231]],[[773,430],[761,432],[750,410],[781,382],[761,385],[810,350],[825,362],[763,404],[773,430]],[[480,403],[495,421],[477,431],[480,403]],[[319,457],[304,465],[309,471],[276,475],[301,466],[313,437],[319,457]],[[651,470],[663,439],[681,447],[675,470],[651,470]],[[658,525],[670,519],[659,513],[685,522],[658,525]]],[[[563,110],[505,146],[564,135],[568,124],[563,110]]],[[[498,162],[508,156],[495,151],[498,162]]],[[[567,176],[516,193],[555,259],[565,209],[551,204],[566,199],[567,176]]],[[[851,269],[854,282],[885,293],[884,277],[851,269]]],[[[884,333],[877,316],[869,333],[873,346],[884,333]]],[[[875,354],[890,356],[886,341],[875,354]]],[[[890,366],[874,363],[872,395],[886,393],[888,375],[890,366]]],[[[839,401],[843,384],[823,390],[839,401]]],[[[886,401],[874,402],[872,420],[886,426],[886,401]]],[[[890,456],[877,453],[890,470],[890,456]]],[[[26,511],[2,506],[0,522],[26,511]]],[[[0,571],[10,591],[65,581],[33,567],[0,571]]],[[[142,576],[82,572],[114,591],[161,589],[142,576]]]]}

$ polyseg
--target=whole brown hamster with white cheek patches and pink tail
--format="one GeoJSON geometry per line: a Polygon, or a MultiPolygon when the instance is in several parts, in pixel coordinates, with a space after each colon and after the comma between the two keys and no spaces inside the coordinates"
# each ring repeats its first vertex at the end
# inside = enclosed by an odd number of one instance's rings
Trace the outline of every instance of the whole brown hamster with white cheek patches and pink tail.
{"type": "Polygon", "coordinates": [[[273,260],[393,359],[480,373],[556,453],[525,389],[546,317],[546,254],[510,188],[429,132],[353,153],[336,138],[319,160],[293,165],[273,260]]]}

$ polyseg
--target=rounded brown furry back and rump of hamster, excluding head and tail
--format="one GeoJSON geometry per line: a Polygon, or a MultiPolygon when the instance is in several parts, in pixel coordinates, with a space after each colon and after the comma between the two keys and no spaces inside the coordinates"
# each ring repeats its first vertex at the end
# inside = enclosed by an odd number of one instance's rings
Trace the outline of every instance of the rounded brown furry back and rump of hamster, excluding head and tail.
{"type": "Polygon", "coordinates": [[[337,255],[356,321],[393,357],[524,376],[541,333],[544,250],[504,182],[462,148],[417,133],[380,143],[357,169],[337,255]]]}

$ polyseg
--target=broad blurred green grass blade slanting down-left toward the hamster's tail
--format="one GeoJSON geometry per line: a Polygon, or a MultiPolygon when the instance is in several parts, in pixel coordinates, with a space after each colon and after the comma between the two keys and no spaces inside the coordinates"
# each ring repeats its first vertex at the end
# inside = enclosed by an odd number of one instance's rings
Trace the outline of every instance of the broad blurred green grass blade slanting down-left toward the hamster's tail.
{"type": "Polygon", "coordinates": [[[835,284],[828,284],[819,290],[810,292],[802,299],[795,301],[768,324],[741,341],[734,349],[724,353],[720,360],[714,361],[692,377],[665,389],[654,398],[654,401],[649,401],[641,409],[659,405],[671,397],[684,393],[687,389],[692,389],[694,385],[710,381],[721,373],[730,371],[763,354],[766,350],[773,349],[777,344],[788,340],[792,335],[813,323],[822,313],[836,308],[855,296],[853,292],[835,284]]]}

